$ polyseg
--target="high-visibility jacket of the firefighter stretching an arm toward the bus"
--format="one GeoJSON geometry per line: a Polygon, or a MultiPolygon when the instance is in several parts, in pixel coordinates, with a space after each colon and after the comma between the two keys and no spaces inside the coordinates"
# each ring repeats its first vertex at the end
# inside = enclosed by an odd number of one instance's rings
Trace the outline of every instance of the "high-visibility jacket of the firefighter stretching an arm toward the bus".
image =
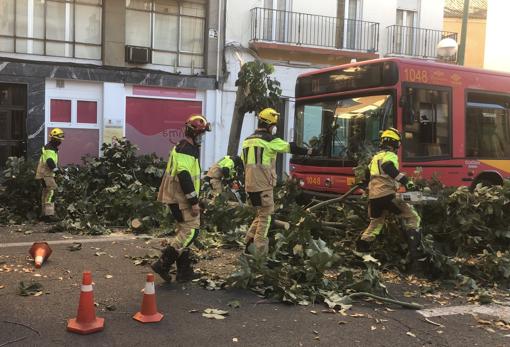
{"type": "Polygon", "coordinates": [[[276,156],[278,153],[307,154],[306,148],[257,129],[243,141],[241,159],[245,168],[247,192],[261,192],[276,185],[276,156]]]}

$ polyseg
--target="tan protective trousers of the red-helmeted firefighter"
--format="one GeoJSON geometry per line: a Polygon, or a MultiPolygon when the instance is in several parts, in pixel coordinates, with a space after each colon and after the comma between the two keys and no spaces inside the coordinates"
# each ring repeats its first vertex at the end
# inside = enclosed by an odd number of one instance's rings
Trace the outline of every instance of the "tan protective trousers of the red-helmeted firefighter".
{"type": "Polygon", "coordinates": [[[175,227],[175,237],[170,240],[170,246],[178,251],[189,247],[198,237],[200,228],[200,215],[193,216],[191,208],[179,209],[178,204],[170,204],[172,215],[177,221],[175,227]]]}

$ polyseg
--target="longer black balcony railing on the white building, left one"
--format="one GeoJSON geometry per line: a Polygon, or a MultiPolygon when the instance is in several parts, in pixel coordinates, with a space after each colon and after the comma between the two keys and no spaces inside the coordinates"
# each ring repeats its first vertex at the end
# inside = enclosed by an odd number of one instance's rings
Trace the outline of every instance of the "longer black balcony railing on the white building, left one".
{"type": "Polygon", "coordinates": [[[379,23],[256,7],[252,41],[377,52],[379,23]]]}

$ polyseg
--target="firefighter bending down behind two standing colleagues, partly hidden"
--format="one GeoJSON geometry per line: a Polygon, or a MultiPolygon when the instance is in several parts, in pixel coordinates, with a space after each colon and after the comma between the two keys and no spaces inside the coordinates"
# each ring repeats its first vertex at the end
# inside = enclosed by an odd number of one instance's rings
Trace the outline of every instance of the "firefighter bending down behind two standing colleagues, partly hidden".
{"type": "Polygon", "coordinates": [[[230,185],[233,180],[242,180],[244,164],[241,157],[226,155],[215,163],[204,178],[204,190],[211,189],[214,194],[221,194],[224,185],[230,185]]]}

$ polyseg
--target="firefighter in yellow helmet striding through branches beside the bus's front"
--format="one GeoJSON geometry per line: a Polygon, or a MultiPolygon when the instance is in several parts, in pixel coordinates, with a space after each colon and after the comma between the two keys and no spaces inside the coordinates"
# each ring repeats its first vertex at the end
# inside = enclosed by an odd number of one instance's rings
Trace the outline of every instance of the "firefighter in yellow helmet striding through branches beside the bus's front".
{"type": "Polygon", "coordinates": [[[411,205],[396,198],[400,185],[408,190],[414,188],[414,183],[399,171],[397,152],[400,142],[400,132],[397,129],[389,128],[383,131],[379,143],[381,150],[372,157],[367,168],[370,224],[361,235],[358,246],[361,250],[367,250],[381,233],[386,216],[394,213],[403,220],[409,254],[414,266],[421,243],[420,216],[411,205]]]}

